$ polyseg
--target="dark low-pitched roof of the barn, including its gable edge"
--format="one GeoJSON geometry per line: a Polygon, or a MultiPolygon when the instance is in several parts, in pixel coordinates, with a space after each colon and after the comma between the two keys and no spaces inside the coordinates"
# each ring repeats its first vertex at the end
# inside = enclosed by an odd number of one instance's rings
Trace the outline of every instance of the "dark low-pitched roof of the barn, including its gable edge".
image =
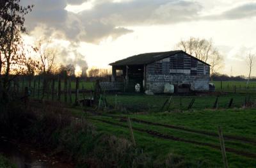
{"type": "MultiPolygon", "coordinates": [[[[175,54],[178,54],[180,52],[184,52],[182,50],[171,50],[167,52],[150,52],[150,53],[144,53],[144,54],[138,54],[136,56],[127,57],[125,59],[121,59],[119,61],[116,61],[115,63],[111,63],[109,65],[112,66],[125,66],[125,65],[147,65],[149,63],[154,63],[155,61],[159,61],[161,59],[164,59],[168,56],[173,56],[175,54]]],[[[184,52],[187,54],[186,52],[184,52]]],[[[188,56],[191,56],[187,54],[188,56]]],[[[193,57],[193,56],[191,56],[193,57]]],[[[196,57],[194,57],[197,59],[196,57]]],[[[197,59],[198,61],[205,63],[204,61],[201,61],[200,59],[197,59]]],[[[209,65],[205,63],[206,65],[209,65]]]]}

